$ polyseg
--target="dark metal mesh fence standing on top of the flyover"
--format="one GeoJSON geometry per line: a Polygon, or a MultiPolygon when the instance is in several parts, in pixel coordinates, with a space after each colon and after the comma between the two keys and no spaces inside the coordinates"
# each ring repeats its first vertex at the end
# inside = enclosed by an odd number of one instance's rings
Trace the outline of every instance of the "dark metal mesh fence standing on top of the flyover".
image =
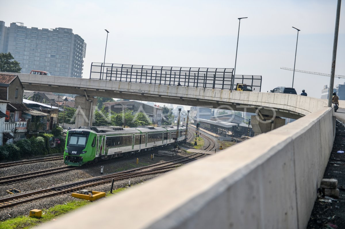
{"type": "MultiPolygon", "coordinates": [[[[90,79],[230,89],[234,69],[91,63],[90,79]]],[[[234,84],[261,91],[260,75],[235,75],[234,84]]]]}

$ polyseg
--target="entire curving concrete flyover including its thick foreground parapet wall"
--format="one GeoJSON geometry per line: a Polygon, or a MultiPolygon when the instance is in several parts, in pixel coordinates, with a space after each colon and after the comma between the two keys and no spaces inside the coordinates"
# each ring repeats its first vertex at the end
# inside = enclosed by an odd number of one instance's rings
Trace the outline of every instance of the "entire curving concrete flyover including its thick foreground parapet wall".
{"type": "Polygon", "coordinates": [[[324,101],[27,74],[20,79],[27,90],[83,94],[85,89],[89,95],[253,110],[270,106],[282,116],[301,117],[40,228],[306,228],[334,141],[334,113],[324,101]],[[99,214],[85,217],[92,212],[99,214]]]}

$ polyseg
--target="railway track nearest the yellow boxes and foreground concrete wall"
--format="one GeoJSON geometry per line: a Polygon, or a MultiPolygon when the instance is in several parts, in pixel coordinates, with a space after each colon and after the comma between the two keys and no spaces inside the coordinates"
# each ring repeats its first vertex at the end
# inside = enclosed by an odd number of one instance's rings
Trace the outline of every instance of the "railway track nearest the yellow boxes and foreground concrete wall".
{"type": "Polygon", "coordinates": [[[187,163],[203,155],[204,154],[195,153],[187,157],[178,158],[178,159],[171,160],[168,162],[158,163],[155,165],[149,165],[149,166],[145,166],[141,168],[122,171],[119,173],[91,178],[91,179],[87,179],[83,181],[78,181],[75,183],[56,186],[52,188],[41,189],[38,191],[28,192],[25,194],[19,194],[12,197],[2,198],[0,199],[0,208],[6,208],[6,207],[14,206],[17,204],[21,204],[24,202],[44,198],[44,197],[70,193],[70,192],[77,191],[80,189],[85,189],[87,187],[110,183],[112,179],[123,180],[123,179],[144,176],[144,175],[149,175],[149,174],[165,173],[167,171],[175,169],[181,163],[187,163]]]}

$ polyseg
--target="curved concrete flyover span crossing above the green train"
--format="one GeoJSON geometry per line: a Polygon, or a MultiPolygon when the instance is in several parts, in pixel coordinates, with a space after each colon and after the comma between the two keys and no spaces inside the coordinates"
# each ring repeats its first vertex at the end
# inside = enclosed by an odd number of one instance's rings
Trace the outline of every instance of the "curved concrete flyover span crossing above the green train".
{"type": "Polygon", "coordinates": [[[239,92],[203,87],[142,84],[61,76],[18,74],[26,90],[59,92],[190,106],[255,112],[263,115],[300,118],[316,111],[324,103],[311,97],[279,93],[239,92]],[[274,112],[272,111],[274,110],[274,112]]]}

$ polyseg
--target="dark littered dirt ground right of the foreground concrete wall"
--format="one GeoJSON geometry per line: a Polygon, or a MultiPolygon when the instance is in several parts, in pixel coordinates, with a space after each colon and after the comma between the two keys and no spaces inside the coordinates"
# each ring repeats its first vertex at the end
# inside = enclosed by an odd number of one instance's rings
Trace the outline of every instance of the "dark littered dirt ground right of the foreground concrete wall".
{"type": "Polygon", "coordinates": [[[337,153],[339,150],[345,151],[345,126],[337,121],[336,136],[324,178],[338,180],[339,199],[329,200],[319,195],[307,229],[345,228],[345,154],[337,153]]]}

